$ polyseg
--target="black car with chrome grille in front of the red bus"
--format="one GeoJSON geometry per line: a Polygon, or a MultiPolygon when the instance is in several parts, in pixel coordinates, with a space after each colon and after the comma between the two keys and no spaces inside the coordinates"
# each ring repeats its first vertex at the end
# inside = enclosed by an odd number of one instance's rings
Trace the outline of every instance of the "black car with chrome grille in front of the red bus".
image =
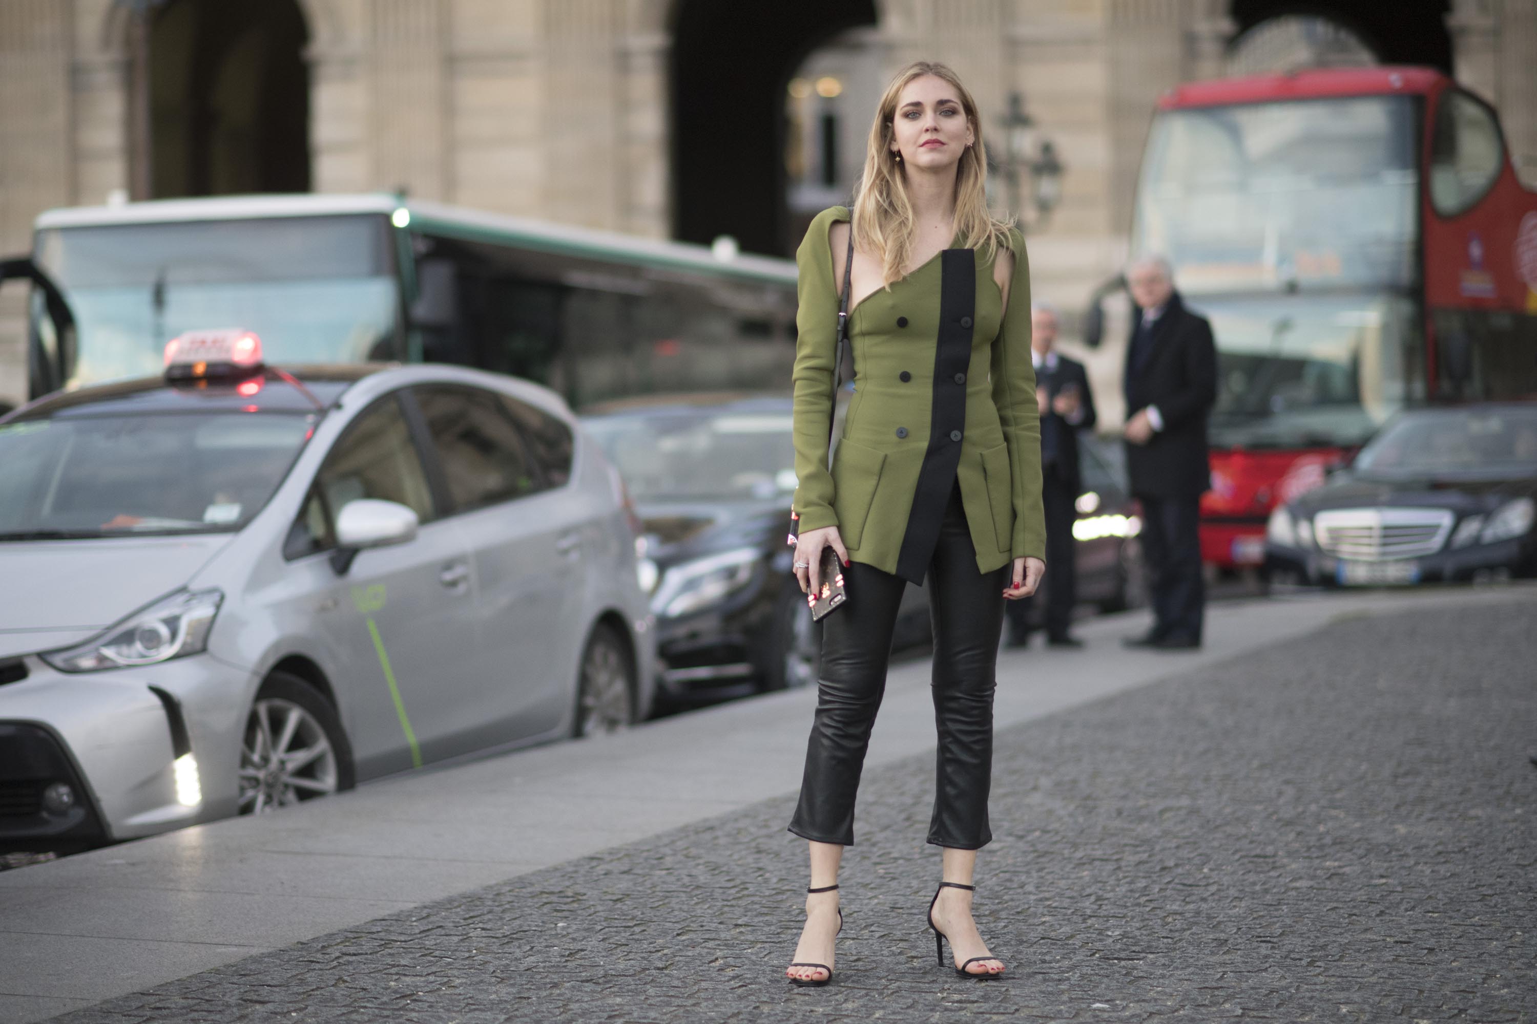
{"type": "Polygon", "coordinates": [[[1270,519],[1277,579],[1386,585],[1537,574],[1537,404],[1400,413],[1270,519]]]}

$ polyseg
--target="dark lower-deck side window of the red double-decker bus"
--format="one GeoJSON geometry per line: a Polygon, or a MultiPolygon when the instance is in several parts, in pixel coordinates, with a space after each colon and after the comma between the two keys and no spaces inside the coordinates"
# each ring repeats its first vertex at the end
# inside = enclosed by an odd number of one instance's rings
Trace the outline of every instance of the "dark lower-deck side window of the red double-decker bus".
{"type": "Polygon", "coordinates": [[[1454,309],[1431,316],[1439,398],[1537,399],[1537,316],[1454,309]]]}

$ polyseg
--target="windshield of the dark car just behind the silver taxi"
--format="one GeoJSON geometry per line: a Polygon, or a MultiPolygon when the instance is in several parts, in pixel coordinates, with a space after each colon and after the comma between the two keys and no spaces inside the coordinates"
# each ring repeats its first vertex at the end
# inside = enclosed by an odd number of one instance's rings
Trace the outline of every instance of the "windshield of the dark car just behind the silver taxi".
{"type": "Polygon", "coordinates": [[[586,427],[636,500],[788,502],[795,493],[788,410],[595,416],[586,427]]]}

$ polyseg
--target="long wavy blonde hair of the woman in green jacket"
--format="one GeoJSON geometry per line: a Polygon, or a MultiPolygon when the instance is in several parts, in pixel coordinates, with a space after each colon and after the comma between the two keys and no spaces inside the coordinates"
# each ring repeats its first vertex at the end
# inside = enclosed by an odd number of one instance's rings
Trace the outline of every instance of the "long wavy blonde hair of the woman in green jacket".
{"type": "Polygon", "coordinates": [[[965,238],[967,249],[982,249],[987,259],[993,258],[999,246],[1010,247],[1010,221],[993,216],[987,209],[987,147],[982,143],[982,118],[976,112],[976,100],[948,66],[921,60],[904,68],[881,95],[875,123],[870,126],[864,173],[859,177],[859,197],[853,209],[855,238],[862,249],[879,253],[881,276],[887,286],[902,276],[902,267],[913,256],[915,235],[907,175],[891,152],[896,101],[907,83],[924,75],[942,78],[954,88],[961,109],[971,126],[971,146],[961,154],[961,166],[956,167],[956,233],[965,238]]]}

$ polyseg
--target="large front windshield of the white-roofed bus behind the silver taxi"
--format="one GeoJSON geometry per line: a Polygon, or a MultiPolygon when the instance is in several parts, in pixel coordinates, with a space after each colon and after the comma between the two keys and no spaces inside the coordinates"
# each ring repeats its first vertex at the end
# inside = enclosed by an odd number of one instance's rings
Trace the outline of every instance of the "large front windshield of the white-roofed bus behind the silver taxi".
{"type": "MultiPolygon", "coordinates": [[[[66,387],[160,373],[189,330],[255,332],[271,362],[395,359],[395,279],[381,216],[290,216],[38,232],[75,316],[66,387]]],[[[51,324],[34,309],[43,348],[51,324]]]]}

